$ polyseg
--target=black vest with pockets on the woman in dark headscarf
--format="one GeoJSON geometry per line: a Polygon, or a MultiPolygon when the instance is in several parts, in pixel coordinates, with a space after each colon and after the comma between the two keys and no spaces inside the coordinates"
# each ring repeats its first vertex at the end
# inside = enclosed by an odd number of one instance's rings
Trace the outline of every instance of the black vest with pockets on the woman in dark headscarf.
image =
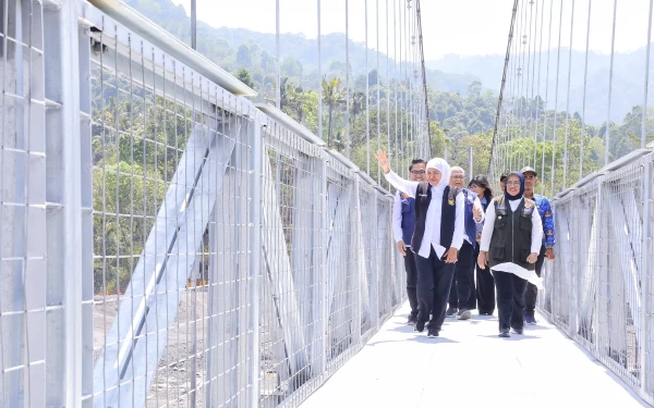
{"type": "Polygon", "coordinates": [[[512,262],[533,271],[535,263],[529,263],[526,258],[531,254],[531,218],[536,209],[535,202],[524,197],[513,212],[504,196],[496,197],[493,201],[495,227],[488,250],[491,269],[500,263],[512,262]]]}

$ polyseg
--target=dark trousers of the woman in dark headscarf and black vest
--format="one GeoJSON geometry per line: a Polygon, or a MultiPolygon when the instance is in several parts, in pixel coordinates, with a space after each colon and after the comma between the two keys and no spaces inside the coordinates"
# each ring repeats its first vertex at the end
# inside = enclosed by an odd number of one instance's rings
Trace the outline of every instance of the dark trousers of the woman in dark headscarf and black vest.
{"type": "Polygon", "coordinates": [[[493,271],[497,287],[499,330],[524,326],[524,289],[526,281],[511,272],[493,271]]]}

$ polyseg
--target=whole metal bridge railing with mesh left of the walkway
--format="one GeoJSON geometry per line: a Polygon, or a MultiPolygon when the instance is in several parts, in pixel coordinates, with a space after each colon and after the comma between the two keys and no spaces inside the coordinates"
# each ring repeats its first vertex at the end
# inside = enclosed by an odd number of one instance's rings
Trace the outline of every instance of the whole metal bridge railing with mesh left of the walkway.
{"type": "Polygon", "coordinates": [[[89,3],[2,14],[0,406],[296,406],[401,305],[315,135],[89,3]]]}

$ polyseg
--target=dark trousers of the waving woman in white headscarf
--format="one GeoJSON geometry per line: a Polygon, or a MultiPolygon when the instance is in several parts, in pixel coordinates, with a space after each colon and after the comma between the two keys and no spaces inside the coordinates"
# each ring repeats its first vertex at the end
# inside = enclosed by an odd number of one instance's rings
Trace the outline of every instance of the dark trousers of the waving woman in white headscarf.
{"type": "Polygon", "coordinates": [[[449,290],[455,275],[456,263],[445,263],[438,259],[434,247],[429,258],[415,255],[417,267],[417,320],[426,322],[429,320],[429,311],[433,312],[429,327],[440,331],[445,321],[445,309],[449,298],[449,290]]]}

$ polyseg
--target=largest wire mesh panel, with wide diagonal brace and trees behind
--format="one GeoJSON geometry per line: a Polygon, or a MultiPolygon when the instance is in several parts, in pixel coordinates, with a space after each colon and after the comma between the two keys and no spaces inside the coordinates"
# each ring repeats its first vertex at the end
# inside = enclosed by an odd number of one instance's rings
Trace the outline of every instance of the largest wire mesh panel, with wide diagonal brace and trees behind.
{"type": "Polygon", "coordinates": [[[109,18],[97,28],[94,405],[242,406],[253,108],[109,18]]]}

